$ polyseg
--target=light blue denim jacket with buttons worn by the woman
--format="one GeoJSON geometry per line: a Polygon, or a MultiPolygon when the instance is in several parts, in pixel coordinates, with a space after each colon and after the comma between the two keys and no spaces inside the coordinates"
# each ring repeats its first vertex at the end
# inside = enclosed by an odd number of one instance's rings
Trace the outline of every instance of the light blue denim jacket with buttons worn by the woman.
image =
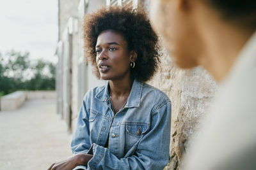
{"type": "Polygon", "coordinates": [[[127,103],[114,115],[108,89],[109,82],[84,97],[71,149],[93,157],[77,169],[163,169],[170,150],[170,99],[134,80],[127,103]]]}

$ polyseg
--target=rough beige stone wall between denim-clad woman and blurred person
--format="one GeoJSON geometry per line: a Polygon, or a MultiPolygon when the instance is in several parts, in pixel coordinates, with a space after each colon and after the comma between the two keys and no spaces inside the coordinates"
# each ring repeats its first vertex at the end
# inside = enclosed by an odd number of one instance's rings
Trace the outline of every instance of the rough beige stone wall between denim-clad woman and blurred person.
{"type": "Polygon", "coordinates": [[[216,82],[201,67],[179,69],[163,50],[157,74],[148,83],[163,90],[172,101],[170,162],[165,169],[179,169],[189,139],[200,126],[214,96],[216,82]]]}

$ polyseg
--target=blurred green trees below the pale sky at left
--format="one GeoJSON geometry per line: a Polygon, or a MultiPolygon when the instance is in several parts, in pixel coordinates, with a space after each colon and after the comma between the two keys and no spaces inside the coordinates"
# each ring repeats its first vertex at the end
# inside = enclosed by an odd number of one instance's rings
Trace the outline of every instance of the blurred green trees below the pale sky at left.
{"type": "Polygon", "coordinates": [[[55,66],[28,52],[0,53],[0,97],[16,90],[55,90],[55,66]]]}

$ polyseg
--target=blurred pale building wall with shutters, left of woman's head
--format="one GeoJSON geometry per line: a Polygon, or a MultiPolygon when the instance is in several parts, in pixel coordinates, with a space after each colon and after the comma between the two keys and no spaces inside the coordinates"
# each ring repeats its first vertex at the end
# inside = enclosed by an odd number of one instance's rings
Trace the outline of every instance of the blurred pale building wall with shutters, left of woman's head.
{"type": "Polygon", "coordinates": [[[90,64],[84,63],[82,32],[84,13],[105,4],[104,0],[59,0],[57,112],[67,122],[70,132],[74,130],[84,94],[88,89],[106,83],[92,74],[90,64]]]}

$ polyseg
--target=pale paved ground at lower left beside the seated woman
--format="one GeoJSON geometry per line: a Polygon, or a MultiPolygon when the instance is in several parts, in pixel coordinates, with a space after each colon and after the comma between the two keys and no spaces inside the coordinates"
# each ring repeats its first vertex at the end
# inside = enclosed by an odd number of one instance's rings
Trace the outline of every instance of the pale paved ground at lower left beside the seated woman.
{"type": "Polygon", "coordinates": [[[0,169],[47,169],[72,155],[70,139],[54,99],[30,100],[19,110],[0,111],[0,169]]]}

